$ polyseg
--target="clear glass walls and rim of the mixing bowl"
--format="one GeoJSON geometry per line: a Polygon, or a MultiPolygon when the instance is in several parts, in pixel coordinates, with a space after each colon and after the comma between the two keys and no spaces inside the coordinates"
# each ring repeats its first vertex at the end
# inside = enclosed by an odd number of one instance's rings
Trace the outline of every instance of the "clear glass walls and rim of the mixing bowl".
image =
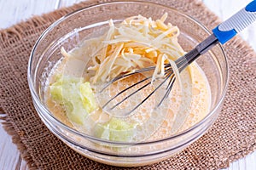
{"type": "Polygon", "coordinates": [[[168,13],[167,22],[178,26],[181,35],[179,42],[185,51],[189,51],[210,33],[201,23],[190,16],[155,3],[119,2],[104,3],[79,9],[57,20],[44,31],[32,49],[28,65],[28,83],[32,100],[38,115],[49,130],[65,144],[83,156],[114,166],[134,167],[166,160],[170,156],[188,147],[207,132],[218,117],[227,90],[229,70],[223,48],[218,44],[196,62],[205,72],[210,83],[212,103],[207,116],[182,133],[166,139],[143,143],[122,143],[80,133],[60,122],[44,105],[45,80],[55,63],[61,59],[61,47],[68,50],[75,47],[83,37],[108,26],[109,19],[115,22],[127,17],[142,14],[154,20],[168,13]]]}

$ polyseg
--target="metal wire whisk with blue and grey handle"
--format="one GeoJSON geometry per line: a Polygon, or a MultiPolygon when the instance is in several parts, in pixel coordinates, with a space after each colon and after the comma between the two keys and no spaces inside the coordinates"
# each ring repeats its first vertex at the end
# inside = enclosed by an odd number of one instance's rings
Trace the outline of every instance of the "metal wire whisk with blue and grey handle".
{"type": "MultiPolygon", "coordinates": [[[[212,35],[207,37],[203,42],[199,43],[194,49],[189,51],[189,53],[183,55],[183,57],[180,57],[175,61],[175,64],[177,65],[177,69],[179,72],[183,71],[189,64],[191,64],[195,59],[197,59],[201,54],[205,54],[209,49],[211,49],[214,45],[216,45],[218,42],[224,44],[225,42],[229,41],[232,37],[236,36],[236,33],[242,31],[247,26],[251,25],[253,21],[256,20],[256,1],[254,0],[251,3],[248,3],[245,8],[242,8],[239,12],[234,14],[230,17],[230,19],[225,20],[223,23],[218,25],[212,30],[212,35]]],[[[106,88],[108,88],[109,85],[111,85],[113,82],[117,82],[120,79],[123,79],[125,77],[130,77],[131,75],[143,73],[145,71],[153,71],[155,69],[154,66],[150,66],[147,68],[143,68],[137,71],[133,71],[131,73],[122,74],[118,77],[114,77],[111,81],[109,81],[101,90],[104,91],[106,88]]],[[[160,102],[156,105],[156,107],[159,107],[163,101],[168,97],[168,95],[171,93],[173,84],[176,80],[175,74],[172,70],[171,64],[165,65],[165,78],[162,82],[154,90],[148,94],[147,97],[145,97],[141,102],[139,102],[137,105],[135,105],[131,111],[127,111],[125,113],[125,116],[130,115],[133,111],[137,110],[137,108],[140,105],[143,105],[143,103],[152,95],[154,94],[166,81],[168,82],[168,85],[166,87],[166,93],[163,95],[162,99],[160,99],[160,102]]],[[[135,88],[137,85],[148,81],[151,79],[152,76],[146,77],[143,80],[136,82],[129,86],[128,88],[125,88],[124,90],[120,91],[118,94],[114,95],[111,99],[109,99],[105,104],[102,105],[102,109],[107,108],[108,105],[116,99],[120,94],[124,94],[127,90],[130,90],[131,88],[135,88]]],[[[123,99],[121,99],[119,102],[117,102],[114,105],[111,105],[110,108],[108,108],[108,111],[112,111],[114,108],[116,108],[118,105],[121,105],[126,99],[129,99],[132,95],[137,94],[139,91],[141,91],[143,88],[146,88],[148,85],[150,85],[150,81],[145,83],[142,87],[137,88],[134,90],[131,94],[126,95],[123,99]]]]}

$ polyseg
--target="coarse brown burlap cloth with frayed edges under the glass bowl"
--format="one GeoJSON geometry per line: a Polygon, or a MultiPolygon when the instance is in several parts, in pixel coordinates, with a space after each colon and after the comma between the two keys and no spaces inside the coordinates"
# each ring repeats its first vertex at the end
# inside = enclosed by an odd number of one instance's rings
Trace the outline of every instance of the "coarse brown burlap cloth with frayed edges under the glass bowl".
{"type": "MultiPolygon", "coordinates": [[[[102,2],[91,0],[61,8],[0,31],[0,112],[5,114],[3,125],[32,169],[119,169],[80,156],[50,133],[33,108],[26,81],[29,54],[42,31],[62,15],[93,3],[102,2]]],[[[158,3],[194,16],[209,29],[218,24],[218,17],[201,1],[159,0],[158,3]]],[[[228,167],[231,161],[255,150],[256,56],[239,37],[224,45],[224,49],[229,58],[230,86],[218,121],[182,153],[134,169],[217,169],[228,167]]]]}

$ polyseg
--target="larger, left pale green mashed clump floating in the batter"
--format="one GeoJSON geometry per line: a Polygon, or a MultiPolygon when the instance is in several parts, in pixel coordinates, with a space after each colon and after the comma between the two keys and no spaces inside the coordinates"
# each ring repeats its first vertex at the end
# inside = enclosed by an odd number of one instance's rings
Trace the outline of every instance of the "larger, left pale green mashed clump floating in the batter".
{"type": "Polygon", "coordinates": [[[63,105],[71,122],[83,125],[88,113],[97,108],[90,82],[84,82],[84,78],[68,76],[59,76],[55,80],[49,86],[51,98],[63,105]]]}

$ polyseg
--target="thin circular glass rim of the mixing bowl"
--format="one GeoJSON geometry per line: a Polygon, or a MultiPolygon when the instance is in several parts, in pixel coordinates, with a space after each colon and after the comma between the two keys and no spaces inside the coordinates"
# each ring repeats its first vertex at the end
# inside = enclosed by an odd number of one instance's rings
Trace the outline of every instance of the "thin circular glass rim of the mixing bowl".
{"type": "MultiPolygon", "coordinates": [[[[33,59],[33,56],[35,54],[35,51],[38,48],[39,42],[41,42],[41,40],[48,34],[48,32],[51,31],[55,26],[60,24],[63,20],[66,20],[68,17],[72,16],[73,14],[77,14],[77,13],[79,13],[81,11],[88,10],[90,8],[99,8],[99,7],[102,7],[102,6],[111,5],[111,4],[119,4],[119,3],[129,3],[129,4],[141,3],[141,4],[148,4],[148,5],[151,5],[151,6],[159,6],[161,8],[168,8],[169,10],[172,10],[173,12],[175,12],[177,14],[181,14],[184,17],[188,18],[189,20],[192,20],[197,26],[200,26],[203,31],[206,31],[206,33],[208,35],[211,35],[211,32],[207,29],[206,26],[201,24],[201,22],[199,20],[196,20],[195,18],[193,18],[189,14],[185,14],[182,11],[177,10],[176,8],[165,6],[165,5],[160,4],[160,3],[152,3],[152,2],[143,2],[143,1],[132,0],[132,1],[118,1],[118,2],[110,2],[110,3],[109,2],[108,3],[100,3],[100,4],[90,5],[90,6],[85,7],[85,8],[79,8],[79,9],[74,10],[73,12],[71,12],[69,14],[66,14],[66,15],[62,16],[59,20],[56,20],[53,24],[51,24],[40,35],[40,37],[38,37],[37,42],[35,42],[35,45],[32,48],[32,52],[30,54],[30,58],[28,60],[28,66],[27,66],[27,82],[28,82],[28,86],[29,86],[30,92],[32,94],[33,104],[34,105],[35,105],[35,103],[37,105],[39,104],[41,106],[41,109],[43,109],[45,111],[45,113],[49,116],[50,119],[52,119],[55,123],[57,123],[59,126],[65,128],[69,132],[75,133],[75,134],[79,135],[80,137],[83,137],[83,138],[86,138],[86,139],[91,139],[91,140],[103,142],[103,143],[106,143],[106,144],[122,144],[122,145],[123,144],[129,144],[129,145],[131,145],[131,144],[136,144],[136,145],[140,145],[140,144],[155,144],[155,143],[160,143],[160,142],[167,141],[167,140],[170,140],[170,139],[177,139],[178,137],[183,136],[186,133],[189,133],[189,132],[193,131],[196,127],[199,127],[199,126],[201,126],[201,124],[206,122],[208,120],[208,118],[210,116],[212,116],[212,114],[214,114],[214,112],[218,109],[218,107],[222,104],[222,102],[224,100],[224,96],[225,96],[225,94],[227,92],[227,88],[228,88],[228,84],[229,84],[229,80],[230,80],[230,70],[229,70],[227,56],[224,53],[224,48],[223,48],[223,46],[219,42],[218,42],[217,46],[220,48],[222,54],[224,54],[224,63],[225,63],[225,68],[224,69],[227,71],[227,78],[226,78],[226,81],[224,82],[224,89],[223,89],[223,92],[221,94],[220,99],[218,100],[217,104],[214,106],[212,111],[210,111],[207,114],[207,116],[205,116],[200,122],[195,123],[195,125],[193,125],[192,127],[189,127],[188,129],[186,129],[186,130],[184,130],[182,132],[175,133],[175,134],[173,134],[173,135],[171,135],[169,137],[166,137],[164,139],[156,139],[156,140],[152,140],[152,141],[148,141],[148,142],[119,142],[119,141],[110,141],[110,140],[107,140],[107,139],[100,139],[100,138],[96,138],[94,136],[90,136],[89,134],[86,134],[86,133],[81,133],[78,130],[74,129],[73,127],[68,127],[67,125],[62,123],[60,120],[58,120],[55,116],[53,116],[51,114],[51,112],[47,109],[47,107],[44,105],[44,103],[41,101],[41,99],[39,98],[38,93],[36,92],[36,89],[34,88],[34,83],[32,82],[32,76],[31,76],[31,74],[32,74],[32,69],[31,69],[32,59],[33,59]]],[[[37,112],[38,112],[38,114],[41,114],[39,111],[37,111],[37,112]]]]}

